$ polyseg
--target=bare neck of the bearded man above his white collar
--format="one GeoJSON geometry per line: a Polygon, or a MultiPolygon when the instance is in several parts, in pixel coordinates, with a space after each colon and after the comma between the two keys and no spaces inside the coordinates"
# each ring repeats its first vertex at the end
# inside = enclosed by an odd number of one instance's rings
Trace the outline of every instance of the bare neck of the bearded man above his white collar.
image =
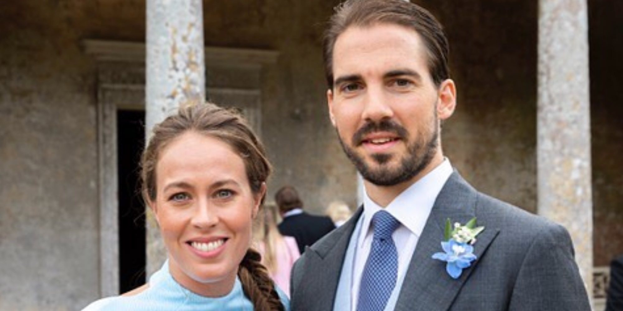
{"type": "Polygon", "coordinates": [[[428,175],[432,170],[442,164],[442,162],[444,162],[444,157],[439,154],[439,156],[435,156],[430,161],[429,165],[427,165],[425,169],[419,172],[419,174],[415,175],[409,180],[397,183],[396,185],[375,185],[368,180],[364,180],[363,185],[366,188],[366,193],[368,193],[368,197],[373,200],[374,203],[378,204],[379,207],[386,207],[394,200],[394,198],[396,198],[398,195],[400,195],[400,193],[406,190],[406,188],[411,187],[411,185],[416,183],[418,180],[428,175]]]}

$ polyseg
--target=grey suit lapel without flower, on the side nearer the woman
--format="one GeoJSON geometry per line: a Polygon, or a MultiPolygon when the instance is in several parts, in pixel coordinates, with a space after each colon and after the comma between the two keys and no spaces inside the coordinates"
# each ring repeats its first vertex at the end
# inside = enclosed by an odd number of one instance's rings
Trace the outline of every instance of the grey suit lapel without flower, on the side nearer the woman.
{"type": "Polygon", "coordinates": [[[346,249],[362,212],[360,207],[344,225],[305,249],[305,310],[333,310],[346,249]]]}

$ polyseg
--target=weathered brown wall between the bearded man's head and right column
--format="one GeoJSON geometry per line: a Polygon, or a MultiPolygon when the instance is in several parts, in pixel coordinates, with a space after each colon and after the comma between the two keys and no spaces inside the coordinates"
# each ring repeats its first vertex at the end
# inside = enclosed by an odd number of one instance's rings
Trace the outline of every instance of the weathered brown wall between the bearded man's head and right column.
{"type": "Polygon", "coordinates": [[[444,24],[457,83],[445,154],[478,190],[536,211],[536,2],[419,1],[444,24]]]}

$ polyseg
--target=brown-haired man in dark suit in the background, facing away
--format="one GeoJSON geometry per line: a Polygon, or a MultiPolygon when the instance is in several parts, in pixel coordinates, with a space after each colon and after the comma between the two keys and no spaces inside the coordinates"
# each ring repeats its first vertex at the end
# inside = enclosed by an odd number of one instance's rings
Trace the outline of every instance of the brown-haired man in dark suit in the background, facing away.
{"type": "Polygon", "coordinates": [[[331,218],[310,215],[303,211],[303,202],[294,187],[280,188],[275,193],[275,202],[283,216],[283,221],[278,225],[279,232],[293,236],[297,240],[298,251],[301,254],[305,251],[305,246],[312,245],[335,229],[331,218]]]}

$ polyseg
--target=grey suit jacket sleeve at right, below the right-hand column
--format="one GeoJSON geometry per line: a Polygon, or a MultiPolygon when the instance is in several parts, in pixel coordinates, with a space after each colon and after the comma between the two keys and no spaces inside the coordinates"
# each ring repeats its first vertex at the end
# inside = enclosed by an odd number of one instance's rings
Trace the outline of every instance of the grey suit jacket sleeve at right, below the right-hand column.
{"type": "Polygon", "coordinates": [[[509,310],[591,310],[569,233],[548,224],[521,263],[509,310]]]}

